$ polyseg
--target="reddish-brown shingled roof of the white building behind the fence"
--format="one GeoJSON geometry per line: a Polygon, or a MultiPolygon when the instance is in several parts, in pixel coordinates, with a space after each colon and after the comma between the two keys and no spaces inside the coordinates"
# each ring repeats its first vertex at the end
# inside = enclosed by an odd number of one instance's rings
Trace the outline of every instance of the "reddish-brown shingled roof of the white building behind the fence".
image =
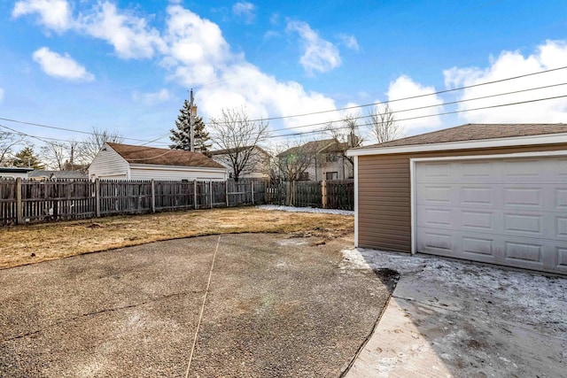
{"type": "Polygon", "coordinates": [[[148,164],[155,166],[198,166],[204,168],[222,168],[212,158],[200,152],[186,150],[168,150],[155,147],[134,146],[131,144],[106,143],[129,164],[148,164]]]}

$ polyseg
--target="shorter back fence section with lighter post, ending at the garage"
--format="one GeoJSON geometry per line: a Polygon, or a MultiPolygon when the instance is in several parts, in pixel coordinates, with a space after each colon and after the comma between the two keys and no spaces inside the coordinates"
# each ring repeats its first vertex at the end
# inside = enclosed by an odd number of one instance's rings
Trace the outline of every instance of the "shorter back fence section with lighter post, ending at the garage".
{"type": "Polygon", "coordinates": [[[266,203],[354,210],[354,181],[283,181],[266,188],[266,203]]]}

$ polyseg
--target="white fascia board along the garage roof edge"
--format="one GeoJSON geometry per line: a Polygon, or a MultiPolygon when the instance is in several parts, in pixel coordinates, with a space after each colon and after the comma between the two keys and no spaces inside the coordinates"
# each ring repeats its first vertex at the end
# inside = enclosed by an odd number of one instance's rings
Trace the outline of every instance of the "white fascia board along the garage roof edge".
{"type": "Polygon", "coordinates": [[[351,149],[346,156],[387,155],[399,153],[431,152],[443,150],[476,150],[498,147],[530,146],[539,144],[567,143],[567,133],[514,136],[510,138],[478,139],[471,141],[413,144],[393,147],[351,149]]]}

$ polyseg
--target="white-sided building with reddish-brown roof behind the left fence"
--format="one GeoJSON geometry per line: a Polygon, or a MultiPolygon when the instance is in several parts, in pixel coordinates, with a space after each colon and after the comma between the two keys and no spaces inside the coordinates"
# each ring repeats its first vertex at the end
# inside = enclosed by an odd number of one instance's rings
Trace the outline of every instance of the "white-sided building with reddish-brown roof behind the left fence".
{"type": "Polygon", "coordinates": [[[200,152],[105,143],[89,166],[89,178],[224,181],[227,170],[200,152]]]}

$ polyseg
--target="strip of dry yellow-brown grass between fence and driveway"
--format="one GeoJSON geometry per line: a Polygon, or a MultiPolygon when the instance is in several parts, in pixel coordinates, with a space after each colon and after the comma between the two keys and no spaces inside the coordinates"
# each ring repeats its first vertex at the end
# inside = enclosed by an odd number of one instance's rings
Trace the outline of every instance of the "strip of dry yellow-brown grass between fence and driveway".
{"type": "Polygon", "coordinates": [[[333,238],[351,234],[353,223],[346,215],[248,207],[7,227],[0,228],[0,268],[189,236],[274,232],[333,238]]]}

